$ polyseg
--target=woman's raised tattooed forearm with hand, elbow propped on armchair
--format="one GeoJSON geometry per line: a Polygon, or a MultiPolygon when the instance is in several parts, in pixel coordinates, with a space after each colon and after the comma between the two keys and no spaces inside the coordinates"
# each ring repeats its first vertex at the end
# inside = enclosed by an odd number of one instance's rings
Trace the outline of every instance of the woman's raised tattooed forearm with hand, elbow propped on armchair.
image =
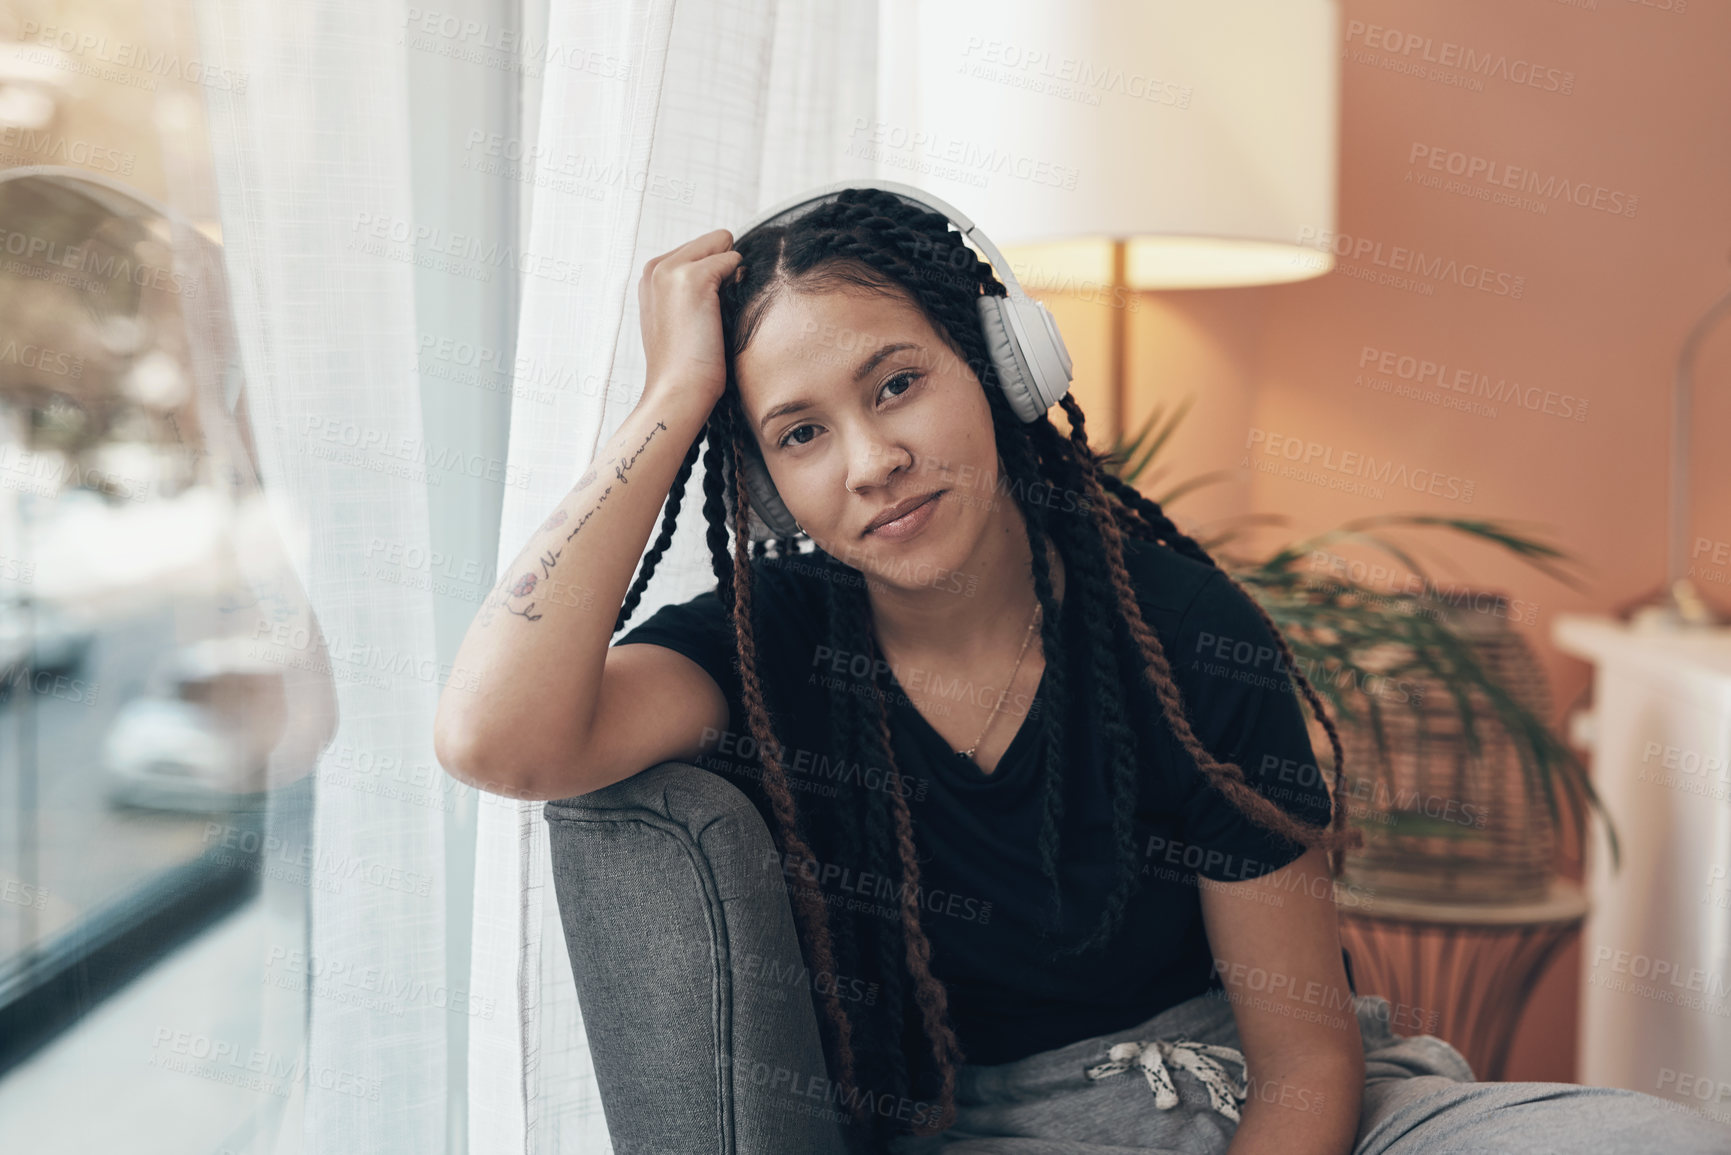
{"type": "MultiPolygon", "coordinates": [[[[739,270],[725,229],[644,265],[644,395],[481,603],[452,661],[433,748],[492,793],[550,797],[530,776],[582,750],[637,561],[685,452],[727,386],[720,282],[739,270]]],[[[571,783],[559,790],[582,793],[571,783]]]]}

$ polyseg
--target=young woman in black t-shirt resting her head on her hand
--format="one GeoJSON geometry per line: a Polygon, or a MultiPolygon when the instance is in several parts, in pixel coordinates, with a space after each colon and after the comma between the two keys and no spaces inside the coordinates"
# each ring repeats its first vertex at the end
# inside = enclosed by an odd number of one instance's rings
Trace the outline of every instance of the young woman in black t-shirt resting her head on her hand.
{"type": "Polygon", "coordinates": [[[981,293],[942,215],[876,189],[649,261],[644,397],[471,627],[447,769],[741,786],[862,1150],[1731,1150],[1651,1096],[1475,1084],[1354,996],[1321,700],[1073,397],[1068,433],[1013,414],[981,293]],[[717,589],[609,648],[699,452],[717,589]],[[751,468],[796,537],[751,545],[751,468]]]}

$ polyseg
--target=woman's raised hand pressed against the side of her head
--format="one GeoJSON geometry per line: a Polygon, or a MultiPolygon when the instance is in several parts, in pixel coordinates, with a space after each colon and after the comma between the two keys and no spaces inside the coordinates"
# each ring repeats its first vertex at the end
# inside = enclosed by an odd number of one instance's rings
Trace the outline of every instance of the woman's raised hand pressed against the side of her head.
{"type": "Polygon", "coordinates": [[[734,234],[715,229],[656,256],[637,284],[647,374],[644,395],[696,397],[713,409],[727,386],[720,284],[739,261],[734,234]]]}

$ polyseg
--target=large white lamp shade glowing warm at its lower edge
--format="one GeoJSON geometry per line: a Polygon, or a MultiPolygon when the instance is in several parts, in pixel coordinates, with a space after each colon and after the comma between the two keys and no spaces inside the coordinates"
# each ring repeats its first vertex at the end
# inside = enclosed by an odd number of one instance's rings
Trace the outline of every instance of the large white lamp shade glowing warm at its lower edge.
{"type": "Polygon", "coordinates": [[[890,0],[879,119],[852,152],[1018,256],[1123,239],[1132,287],[1316,277],[1338,29],[1336,0],[890,0]]]}

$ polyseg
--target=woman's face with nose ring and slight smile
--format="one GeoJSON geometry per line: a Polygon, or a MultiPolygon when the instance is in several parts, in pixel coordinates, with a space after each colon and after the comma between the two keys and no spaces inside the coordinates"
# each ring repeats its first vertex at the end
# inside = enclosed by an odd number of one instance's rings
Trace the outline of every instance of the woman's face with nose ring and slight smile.
{"type": "Polygon", "coordinates": [[[855,287],[784,291],[734,377],[775,490],[819,547],[891,585],[959,589],[952,575],[1013,502],[992,500],[980,379],[919,308],[855,287]],[[912,533],[869,528],[928,494],[912,533]]]}

